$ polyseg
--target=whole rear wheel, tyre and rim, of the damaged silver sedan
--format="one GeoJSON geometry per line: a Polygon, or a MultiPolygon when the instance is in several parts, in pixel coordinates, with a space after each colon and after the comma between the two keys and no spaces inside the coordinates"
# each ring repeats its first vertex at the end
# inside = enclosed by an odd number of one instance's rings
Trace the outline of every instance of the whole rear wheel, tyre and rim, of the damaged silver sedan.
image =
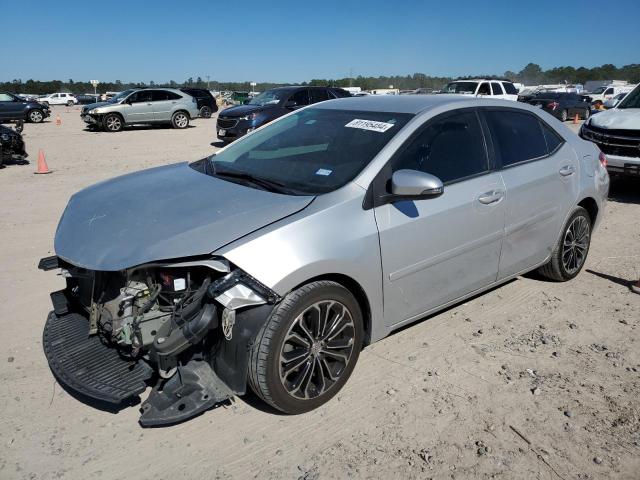
{"type": "Polygon", "coordinates": [[[538,271],[558,282],[571,280],[582,270],[590,245],[591,217],[584,208],[578,207],[567,220],[549,262],[538,271]]]}

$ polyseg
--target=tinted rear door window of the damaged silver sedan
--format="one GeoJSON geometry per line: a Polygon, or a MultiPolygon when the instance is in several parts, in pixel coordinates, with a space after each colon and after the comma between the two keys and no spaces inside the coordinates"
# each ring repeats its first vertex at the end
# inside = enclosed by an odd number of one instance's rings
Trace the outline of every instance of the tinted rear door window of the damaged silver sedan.
{"type": "Polygon", "coordinates": [[[528,112],[485,111],[496,155],[503,167],[547,155],[540,120],[528,112]]]}

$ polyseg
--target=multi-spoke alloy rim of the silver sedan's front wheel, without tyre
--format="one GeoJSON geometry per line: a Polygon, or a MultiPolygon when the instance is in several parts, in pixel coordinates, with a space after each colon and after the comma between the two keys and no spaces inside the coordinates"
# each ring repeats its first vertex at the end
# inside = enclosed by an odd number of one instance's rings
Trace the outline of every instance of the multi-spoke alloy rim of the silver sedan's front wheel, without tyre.
{"type": "Polygon", "coordinates": [[[353,317],[342,303],[323,300],[307,307],[280,350],[280,381],[287,393],[310,400],[329,391],[349,364],[354,336],[353,317]]]}

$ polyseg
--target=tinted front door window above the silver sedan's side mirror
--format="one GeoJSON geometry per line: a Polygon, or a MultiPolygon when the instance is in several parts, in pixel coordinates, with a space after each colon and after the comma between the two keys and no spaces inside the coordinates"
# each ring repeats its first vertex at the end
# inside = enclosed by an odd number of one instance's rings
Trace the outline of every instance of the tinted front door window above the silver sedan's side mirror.
{"type": "Polygon", "coordinates": [[[410,141],[394,171],[419,170],[452,183],[489,170],[484,136],[474,110],[432,120],[410,141]]]}

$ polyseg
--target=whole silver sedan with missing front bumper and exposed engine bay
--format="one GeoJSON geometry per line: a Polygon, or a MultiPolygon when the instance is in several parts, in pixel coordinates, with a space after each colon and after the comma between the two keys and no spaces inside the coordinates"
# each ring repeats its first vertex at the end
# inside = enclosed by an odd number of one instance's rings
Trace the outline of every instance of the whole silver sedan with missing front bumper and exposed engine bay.
{"type": "Polygon", "coordinates": [[[322,102],[217,154],[72,196],[43,346],[70,391],[186,420],[250,387],[298,414],[360,350],[536,268],[575,277],[600,222],[598,149],[528,105],[322,102]]]}

